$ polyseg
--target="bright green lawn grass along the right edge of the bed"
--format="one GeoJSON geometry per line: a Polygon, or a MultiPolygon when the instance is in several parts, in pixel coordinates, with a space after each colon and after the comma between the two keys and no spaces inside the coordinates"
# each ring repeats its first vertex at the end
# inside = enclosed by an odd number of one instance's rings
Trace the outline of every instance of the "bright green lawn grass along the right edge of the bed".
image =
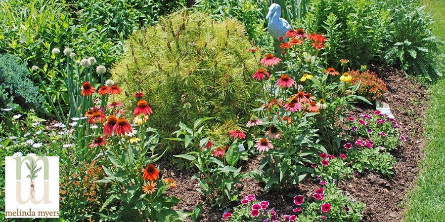
{"type": "MultiPolygon", "coordinates": [[[[422,0],[425,11],[437,22],[434,34],[445,40],[445,0],[422,0]]],[[[445,51],[445,45],[442,46],[445,51]]],[[[408,195],[406,222],[445,221],[445,78],[430,87],[426,119],[428,143],[420,163],[416,186],[408,195]]]]}

